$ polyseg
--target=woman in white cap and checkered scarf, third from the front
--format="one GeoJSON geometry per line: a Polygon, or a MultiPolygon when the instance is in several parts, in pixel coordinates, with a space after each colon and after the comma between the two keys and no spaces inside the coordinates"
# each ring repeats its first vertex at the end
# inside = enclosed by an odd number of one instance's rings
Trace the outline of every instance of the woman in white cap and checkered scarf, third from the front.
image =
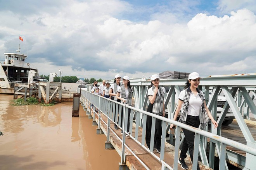
{"type": "MultiPolygon", "coordinates": [[[[123,85],[119,87],[116,98],[121,100],[123,104],[132,105],[132,94],[133,90],[130,85],[130,78],[128,76],[123,77],[123,85]],[[119,97],[120,96],[120,97],[119,97]]],[[[127,122],[127,132],[130,130],[130,114],[131,109],[128,109],[128,122],[127,122]]],[[[121,109],[121,127],[123,128],[123,108],[121,109]]],[[[121,131],[123,132],[123,130],[121,131]]]]}

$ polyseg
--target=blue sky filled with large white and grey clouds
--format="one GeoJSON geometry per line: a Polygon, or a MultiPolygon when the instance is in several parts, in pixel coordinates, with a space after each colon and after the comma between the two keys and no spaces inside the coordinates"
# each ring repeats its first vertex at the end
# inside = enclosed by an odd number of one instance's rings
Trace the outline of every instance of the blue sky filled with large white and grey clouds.
{"type": "Polygon", "coordinates": [[[18,44],[40,75],[256,73],[256,1],[0,0],[0,59],[18,44]]]}

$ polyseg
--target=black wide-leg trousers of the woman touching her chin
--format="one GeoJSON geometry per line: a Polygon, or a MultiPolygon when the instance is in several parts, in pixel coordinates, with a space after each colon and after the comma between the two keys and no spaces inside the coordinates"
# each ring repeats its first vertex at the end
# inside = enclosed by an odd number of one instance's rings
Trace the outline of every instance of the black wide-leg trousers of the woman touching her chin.
{"type": "MultiPolygon", "coordinates": [[[[149,106],[147,107],[147,112],[152,113],[152,108],[153,108],[153,105],[149,103],[149,106]]],[[[148,148],[150,147],[151,128],[152,128],[152,117],[147,116],[146,144],[148,148]]],[[[154,148],[157,148],[157,149],[161,148],[161,138],[162,138],[162,121],[159,119],[156,119],[154,148]]]]}

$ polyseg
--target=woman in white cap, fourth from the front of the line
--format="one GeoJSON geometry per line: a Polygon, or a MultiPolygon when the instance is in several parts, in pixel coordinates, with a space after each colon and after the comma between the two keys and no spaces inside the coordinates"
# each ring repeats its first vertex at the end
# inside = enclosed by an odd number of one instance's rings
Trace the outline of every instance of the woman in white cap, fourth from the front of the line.
{"type": "MultiPolygon", "coordinates": [[[[118,88],[121,87],[120,81],[121,81],[121,75],[116,74],[114,83],[110,86],[110,89],[109,89],[109,95],[111,95],[111,99],[118,101],[118,102],[121,102],[121,100],[116,98],[116,93],[118,92],[118,88]]],[[[119,110],[119,105],[118,105],[118,110],[119,110]]],[[[112,111],[114,111],[114,110],[112,110],[112,111]]],[[[114,111],[114,113],[115,113],[114,114],[114,122],[116,122],[116,111],[114,111]]],[[[114,129],[116,129],[116,130],[118,129],[118,126],[116,124],[114,125],[114,129]]]]}

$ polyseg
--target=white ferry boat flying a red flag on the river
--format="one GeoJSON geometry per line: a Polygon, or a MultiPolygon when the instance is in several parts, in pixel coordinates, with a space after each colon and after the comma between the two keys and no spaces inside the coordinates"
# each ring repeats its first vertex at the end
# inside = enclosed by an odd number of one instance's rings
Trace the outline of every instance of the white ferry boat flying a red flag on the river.
{"type": "Polygon", "coordinates": [[[20,53],[20,45],[16,51],[4,51],[4,60],[0,60],[0,93],[13,94],[15,83],[28,84],[28,72],[38,70],[26,63],[28,54],[20,53]]]}

